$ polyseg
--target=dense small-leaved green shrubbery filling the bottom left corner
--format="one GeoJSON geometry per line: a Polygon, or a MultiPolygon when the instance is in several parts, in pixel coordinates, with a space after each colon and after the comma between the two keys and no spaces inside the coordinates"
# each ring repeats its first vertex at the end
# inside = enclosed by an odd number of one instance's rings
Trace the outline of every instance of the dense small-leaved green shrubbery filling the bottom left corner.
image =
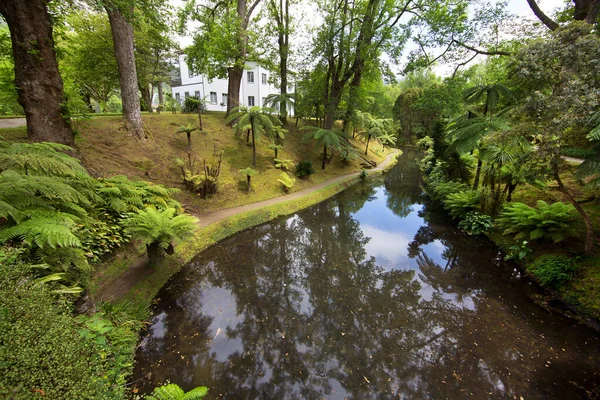
{"type": "Polygon", "coordinates": [[[127,348],[131,360],[139,325],[122,333],[130,340],[127,345],[107,342],[111,351],[83,340],[70,308],[35,283],[31,267],[0,258],[0,397],[124,397],[128,370],[115,362],[115,349],[127,348]]]}

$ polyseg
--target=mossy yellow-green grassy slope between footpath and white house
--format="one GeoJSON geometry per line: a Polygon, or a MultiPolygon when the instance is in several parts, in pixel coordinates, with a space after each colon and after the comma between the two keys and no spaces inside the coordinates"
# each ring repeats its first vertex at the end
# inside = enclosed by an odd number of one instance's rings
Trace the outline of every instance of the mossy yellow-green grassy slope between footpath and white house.
{"type": "MultiPolygon", "coordinates": [[[[131,178],[149,180],[168,186],[181,187],[181,172],[174,163],[175,158],[187,159],[187,138],[185,133],[175,133],[181,124],[197,125],[196,115],[169,114],[144,115],[144,122],[153,140],[136,143],[119,130],[118,117],[93,118],[84,123],[77,140],[84,165],[97,176],[124,174],[131,178]]],[[[182,191],[178,199],[187,211],[202,214],[253,203],[280,196],[281,184],[277,182],[281,170],[274,168],[272,150],[267,148],[266,137],[257,142],[257,166],[259,174],[252,178],[252,191],[246,192],[245,177],[239,170],[252,166],[252,148],[245,138],[237,139],[233,130],[224,124],[224,114],[207,113],[204,115],[203,132],[192,133],[192,153],[196,166],[203,159],[211,159],[214,151],[223,151],[223,163],[219,177],[219,191],[210,199],[202,199],[187,191],[182,191]]],[[[360,159],[343,166],[339,157],[334,157],[325,170],[320,168],[320,151],[314,143],[301,143],[302,131],[294,126],[288,127],[285,147],[279,158],[295,162],[308,159],[313,162],[316,173],[308,180],[296,180],[292,191],[304,189],[323,182],[334,176],[360,170],[360,159]]],[[[364,149],[362,143],[354,142],[358,149],[364,149]]],[[[371,147],[371,146],[370,146],[371,147]]],[[[369,152],[369,159],[381,161],[369,152]]],[[[293,175],[293,174],[292,174],[293,175]]]]}

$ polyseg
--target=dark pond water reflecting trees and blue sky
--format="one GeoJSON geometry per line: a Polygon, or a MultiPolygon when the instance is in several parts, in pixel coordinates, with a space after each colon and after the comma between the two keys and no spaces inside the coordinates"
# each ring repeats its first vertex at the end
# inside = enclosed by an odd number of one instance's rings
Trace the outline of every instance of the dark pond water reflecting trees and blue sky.
{"type": "Polygon", "coordinates": [[[580,399],[595,332],[536,305],[488,241],[426,203],[414,155],[292,217],[224,240],[163,288],[137,353],[229,399],[580,399]]]}

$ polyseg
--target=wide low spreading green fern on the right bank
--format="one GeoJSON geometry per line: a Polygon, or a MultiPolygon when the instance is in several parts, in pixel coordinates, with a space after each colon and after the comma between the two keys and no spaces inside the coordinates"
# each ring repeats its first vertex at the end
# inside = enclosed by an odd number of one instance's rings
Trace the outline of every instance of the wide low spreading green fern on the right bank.
{"type": "Polygon", "coordinates": [[[538,200],[537,208],[523,203],[506,205],[496,223],[505,235],[514,234],[516,240],[551,239],[557,243],[574,233],[573,221],[576,218],[577,213],[571,204],[548,204],[538,200]]]}

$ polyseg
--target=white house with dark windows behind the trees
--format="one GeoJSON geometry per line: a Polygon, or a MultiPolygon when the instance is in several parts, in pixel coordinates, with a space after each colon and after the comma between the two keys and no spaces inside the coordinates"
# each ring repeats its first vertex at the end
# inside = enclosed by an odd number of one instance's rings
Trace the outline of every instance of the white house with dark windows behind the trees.
{"type": "MultiPolygon", "coordinates": [[[[179,55],[179,72],[181,84],[172,86],[173,98],[183,104],[183,100],[189,96],[206,99],[206,109],[209,111],[227,110],[227,79],[208,80],[205,75],[193,75],[183,54],[179,55]]],[[[240,86],[240,105],[264,106],[266,97],[277,94],[279,90],[269,82],[270,72],[255,62],[248,62],[242,84],[240,86]]]]}

